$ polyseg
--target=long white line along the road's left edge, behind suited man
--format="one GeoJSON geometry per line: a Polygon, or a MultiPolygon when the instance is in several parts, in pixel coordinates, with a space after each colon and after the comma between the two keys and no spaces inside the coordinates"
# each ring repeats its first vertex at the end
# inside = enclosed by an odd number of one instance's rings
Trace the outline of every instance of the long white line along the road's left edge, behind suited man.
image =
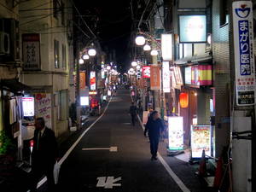
{"type": "MultiPolygon", "coordinates": [[[[112,100],[112,97],[111,97],[110,101],[108,102],[108,105],[109,105],[109,103],[111,102],[111,100],[112,100]]],[[[79,141],[82,139],[82,137],[84,137],[84,135],[90,130],[90,128],[91,128],[93,125],[95,125],[96,122],[97,122],[99,119],[102,119],[103,115],[106,113],[106,111],[107,111],[107,109],[108,109],[108,105],[107,105],[107,107],[105,108],[105,110],[103,111],[102,115],[101,115],[100,117],[98,117],[98,118],[96,119],[96,121],[93,122],[93,124],[91,124],[91,125],[82,133],[82,135],[78,138],[78,140],[77,140],[75,143],[73,143],[73,145],[71,146],[71,148],[69,148],[69,149],[67,150],[66,154],[64,154],[64,156],[63,156],[63,157],[61,158],[61,160],[59,161],[60,166],[61,166],[61,164],[67,159],[68,155],[71,154],[71,152],[73,151],[73,148],[75,148],[75,147],[77,146],[77,144],[78,144],[79,141]]],[[[41,187],[41,185],[44,184],[46,181],[47,181],[47,178],[46,178],[46,177],[42,178],[42,179],[38,182],[38,187],[37,187],[37,188],[41,187]]],[[[29,190],[28,190],[28,191],[29,191],[29,190]]]]}

